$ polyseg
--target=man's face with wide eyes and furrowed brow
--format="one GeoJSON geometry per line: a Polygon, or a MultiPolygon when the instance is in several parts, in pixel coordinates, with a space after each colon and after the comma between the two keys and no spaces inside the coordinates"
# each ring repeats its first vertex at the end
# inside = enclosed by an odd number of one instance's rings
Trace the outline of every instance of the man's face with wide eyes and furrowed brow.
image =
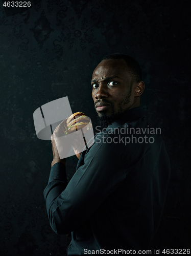
{"type": "Polygon", "coordinates": [[[102,125],[111,124],[131,108],[134,96],[128,66],[123,59],[107,59],[92,74],[92,98],[102,125]]]}

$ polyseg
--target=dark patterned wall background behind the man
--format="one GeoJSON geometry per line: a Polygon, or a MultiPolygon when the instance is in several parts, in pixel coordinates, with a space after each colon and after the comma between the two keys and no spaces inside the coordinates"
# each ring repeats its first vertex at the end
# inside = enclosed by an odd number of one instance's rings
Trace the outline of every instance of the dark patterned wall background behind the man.
{"type": "MultiPolygon", "coordinates": [[[[0,1],[0,255],[65,255],[70,241],[52,231],[43,189],[51,142],[36,137],[33,112],[68,96],[73,112],[97,124],[90,79],[101,58],[125,53],[140,64],[141,104],[160,127],[172,175],[152,248],[190,248],[190,1],[0,1]]],[[[76,156],[67,161],[72,177],[76,156]]]]}

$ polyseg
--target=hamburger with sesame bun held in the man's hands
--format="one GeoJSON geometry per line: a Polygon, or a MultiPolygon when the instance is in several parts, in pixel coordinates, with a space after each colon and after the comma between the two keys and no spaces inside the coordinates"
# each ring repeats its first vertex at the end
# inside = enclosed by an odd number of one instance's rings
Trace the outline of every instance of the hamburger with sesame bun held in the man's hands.
{"type": "Polygon", "coordinates": [[[64,125],[64,134],[67,135],[69,133],[73,133],[78,131],[85,126],[87,126],[87,130],[91,129],[90,118],[87,117],[83,112],[76,112],[68,117],[66,120],[66,124],[64,125]]]}

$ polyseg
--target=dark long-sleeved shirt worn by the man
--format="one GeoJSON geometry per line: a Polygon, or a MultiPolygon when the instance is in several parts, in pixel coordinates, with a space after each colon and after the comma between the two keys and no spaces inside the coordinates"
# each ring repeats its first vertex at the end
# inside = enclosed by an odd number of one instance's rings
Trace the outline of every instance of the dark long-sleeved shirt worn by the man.
{"type": "Polygon", "coordinates": [[[169,177],[163,140],[149,130],[140,108],[95,136],[69,183],[64,164],[54,164],[44,198],[53,230],[71,232],[67,255],[147,249],[159,227],[169,177]]]}

